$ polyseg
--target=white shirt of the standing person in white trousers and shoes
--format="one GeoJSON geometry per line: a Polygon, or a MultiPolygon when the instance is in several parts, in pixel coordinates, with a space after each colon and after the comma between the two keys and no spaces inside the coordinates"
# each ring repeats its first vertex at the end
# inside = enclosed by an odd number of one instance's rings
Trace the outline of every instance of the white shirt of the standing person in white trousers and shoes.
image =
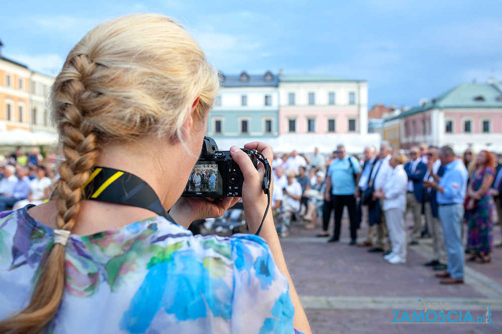
{"type": "Polygon", "coordinates": [[[382,210],[401,209],[406,210],[406,185],[408,183],[408,174],[403,165],[397,165],[389,173],[382,189],[385,199],[382,210]]]}

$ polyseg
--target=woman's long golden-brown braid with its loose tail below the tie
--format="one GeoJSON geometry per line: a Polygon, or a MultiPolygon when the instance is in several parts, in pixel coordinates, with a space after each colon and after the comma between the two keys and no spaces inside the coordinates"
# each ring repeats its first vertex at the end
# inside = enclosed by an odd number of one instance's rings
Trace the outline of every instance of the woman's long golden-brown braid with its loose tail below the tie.
{"type": "MultiPolygon", "coordinates": [[[[76,56],[67,71],[75,75],[73,79],[56,80],[55,92],[61,101],[62,119],[59,133],[65,161],[59,167],[60,179],[53,199],[58,210],[59,229],[71,231],[75,215],[80,208],[83,184],[89,178],[89,171],[99,154],[99,146],[93,127],[85,122],[80,102],[86,92],[84,85],[96,65],[85,55],[76,56]]],[[[60,78],[64,78],[62,75],[60,78]]],[[[54,244],[46,262],[41,267],[29,305],[19,314],[0,322],[0,332],[39,333],[56,314],[63,297],[65,284],[64,246],[54,244]],[[12,330],[12,331],[10,331],[12,330]]]]}

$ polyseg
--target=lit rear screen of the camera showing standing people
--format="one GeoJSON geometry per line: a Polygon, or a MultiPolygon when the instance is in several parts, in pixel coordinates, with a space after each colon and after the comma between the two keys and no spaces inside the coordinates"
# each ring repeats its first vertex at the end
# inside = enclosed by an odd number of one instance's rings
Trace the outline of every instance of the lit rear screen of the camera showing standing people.
{"type": "MultiPolygon", "coordinates": [[[[223,161],[197,161],[183,194],[223,196],[223,180],[218,164],[223,161]]],[[[223,162],[224,163],[224,162],[223,162]]]]}

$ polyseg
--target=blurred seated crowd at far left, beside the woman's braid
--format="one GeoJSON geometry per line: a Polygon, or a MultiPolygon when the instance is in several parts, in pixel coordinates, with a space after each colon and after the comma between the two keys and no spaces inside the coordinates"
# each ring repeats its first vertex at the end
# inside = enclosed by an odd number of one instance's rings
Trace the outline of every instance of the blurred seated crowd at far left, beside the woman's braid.
{"type": "Polygon", "coordinates": [[[28,204],[38,205],[49,200],[56,154],[45,159],[40,149],[33,147],[26,154],[21,147],[0,156],[0,211],[20,209],[28,204]]]}

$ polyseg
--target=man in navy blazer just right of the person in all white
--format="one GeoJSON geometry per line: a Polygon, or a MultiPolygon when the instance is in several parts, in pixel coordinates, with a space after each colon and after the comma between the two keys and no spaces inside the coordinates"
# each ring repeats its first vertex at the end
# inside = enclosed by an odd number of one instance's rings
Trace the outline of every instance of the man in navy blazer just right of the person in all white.
{"type": "Polygon", "coordinates": [[[409,210],[413,213],[413,231],[410,235],[410,245],[417,245],[422,234],[422,201],[424,190],[424,177],[427,165],[422,162],[420,148],[414,146],[410,149],[410,161],[405,165],[408,174],[408,193],[406,195],[405,217],[409,210]]]}

